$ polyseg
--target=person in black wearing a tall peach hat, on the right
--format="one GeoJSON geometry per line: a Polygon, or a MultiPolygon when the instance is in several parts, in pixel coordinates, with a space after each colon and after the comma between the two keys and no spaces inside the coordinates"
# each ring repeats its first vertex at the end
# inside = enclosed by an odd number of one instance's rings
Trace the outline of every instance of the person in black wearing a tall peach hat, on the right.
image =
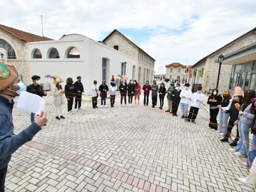
{"type": "MultiPolygon", "coordinates": [[[[228,142],[228,138],[230,137],[230,134],[232,132],[234,125],[236,125],[236,127],[237,127],[237,124],[238,124],[238,115],[239,115],[239,111],[241,109],[244,93],[241,90],[241,87],[239,87],[239,86],[237,86],[235,88],[235,90],[236,91],[234,92],[233,97],[232,97],[232,104],[228,111],[229,112],[229,120],[228,120],[227,131],[225,133],[225,136],[220,140],[222,142],[228,142]]],[[[229,145],[232,147],[236,147],[238,140],[239,140],[239,131],[237,128],[236,138],[229,145]]]]}

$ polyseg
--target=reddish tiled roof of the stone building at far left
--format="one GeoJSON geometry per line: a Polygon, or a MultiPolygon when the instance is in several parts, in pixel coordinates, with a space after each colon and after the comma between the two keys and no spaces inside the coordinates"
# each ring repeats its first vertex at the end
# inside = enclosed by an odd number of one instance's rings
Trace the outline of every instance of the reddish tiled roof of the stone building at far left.
{"type": "Polygon", "coordinates": [[[51,38],[45,37],[45,36],[38,36],[34,35],[32,33],[27,33],[25,31],[20,31],[18,29],[10,28],[8,26],[4,26],[0,24],[0,29],[12,34],[13,36],[16,36],[20,40],[24,42],[40,42],[40,41],[48,41],[52,40],[51,38]]]}

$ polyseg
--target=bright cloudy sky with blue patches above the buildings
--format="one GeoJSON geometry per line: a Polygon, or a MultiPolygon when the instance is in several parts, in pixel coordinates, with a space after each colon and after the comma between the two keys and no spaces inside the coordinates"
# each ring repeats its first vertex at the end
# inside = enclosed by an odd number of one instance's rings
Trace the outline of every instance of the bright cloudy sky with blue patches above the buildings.
{"type": "Polygon", "coordinates": [[[117,29],[165,65],[194,65],[256,27],[255,0],[1,0],[0,23],[58,40],[117,29]]]}

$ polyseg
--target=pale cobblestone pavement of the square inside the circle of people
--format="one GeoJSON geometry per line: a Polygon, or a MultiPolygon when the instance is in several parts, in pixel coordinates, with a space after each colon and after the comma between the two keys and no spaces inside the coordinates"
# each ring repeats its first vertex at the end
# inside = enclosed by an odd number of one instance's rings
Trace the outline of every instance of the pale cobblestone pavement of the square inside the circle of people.
{"type": "MultiPolygon", "coordinates": [[[[253,191],[236,179],[248,175],[245,159],[208,128],[206,102],[193,124],[164,112],[166,101],[143,106],[143,95],[140,105],[117,95],[115,108],[98,109],[83,96],[65,120],[54,118],[51,92],[45,99],[49,122],[13,154],[6,191],[253,191]]],[[[30,114],[15,108],[13,121],[18,133],[30,114]]]]}

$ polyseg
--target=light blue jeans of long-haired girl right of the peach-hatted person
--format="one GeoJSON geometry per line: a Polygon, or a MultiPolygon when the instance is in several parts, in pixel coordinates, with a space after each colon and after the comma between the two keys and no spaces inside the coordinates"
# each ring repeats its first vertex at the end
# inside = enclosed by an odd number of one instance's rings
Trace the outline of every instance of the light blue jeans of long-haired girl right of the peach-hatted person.
{"type": "Polygon", "coordinates": [[[239,130],[239,140],[235,150],[240,152],[243,156],[248,156],[249,150],[249,125],[244,122],[239,121],[238,123],[239,130]]]}

